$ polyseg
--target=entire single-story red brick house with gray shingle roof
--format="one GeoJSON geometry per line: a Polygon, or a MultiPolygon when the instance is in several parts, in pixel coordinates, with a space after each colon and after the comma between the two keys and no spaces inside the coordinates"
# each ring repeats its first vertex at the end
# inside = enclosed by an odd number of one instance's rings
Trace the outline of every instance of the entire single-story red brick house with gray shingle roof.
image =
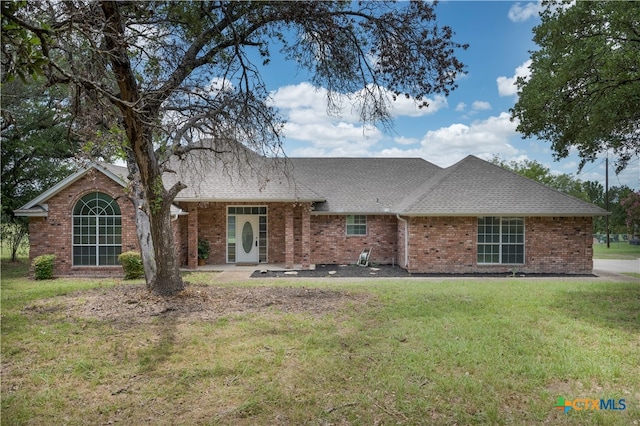
{"type": "MultiPolygon", "coordinates": [[[[309,268],[355,263],[371,248],[372,262],[412,273],[584,274],[593,217],[607,214],[474,156],[440,168],[419,158],[253,155],[165,175],[166,185],[188,185],[172,209],[183,267],[197,268],[204,239],[209,264],[309,268]]],[[[57,254],[57,275],[121,274],[117,255],[139,247],[126,175],[91,164],[16,210],[30,218],[30,256],[57,254]]]]}

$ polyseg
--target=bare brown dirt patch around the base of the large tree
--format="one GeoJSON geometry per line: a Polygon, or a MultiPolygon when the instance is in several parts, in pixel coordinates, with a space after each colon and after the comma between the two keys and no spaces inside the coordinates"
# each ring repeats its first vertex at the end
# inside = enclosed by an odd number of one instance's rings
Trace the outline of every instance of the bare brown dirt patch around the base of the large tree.
{"type": "Polygon", "coordinates": [[[366,304],[372,297],[366,293],[319,288],[202,284],[190,284],[175,296],[159,297],[150,294],[143,284],[125,284],[39,300],[25,310],[37,313],[64,310],[74,317],[132,324],[158,317],[206,321],[267,311],[322,315],[346,304],[366,304]]]}

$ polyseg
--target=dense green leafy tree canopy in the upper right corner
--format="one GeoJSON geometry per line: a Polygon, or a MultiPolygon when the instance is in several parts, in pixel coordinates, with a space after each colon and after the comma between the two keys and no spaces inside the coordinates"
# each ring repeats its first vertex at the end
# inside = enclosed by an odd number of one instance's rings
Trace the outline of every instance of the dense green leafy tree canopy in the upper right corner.
{"type": "Polygon", "coordinates": [[[580,168],[610,150],[617,170],[640,153],[640,3],[544,2],[531,75],[511,110],[524,137],[576,148],[580,168]]]}

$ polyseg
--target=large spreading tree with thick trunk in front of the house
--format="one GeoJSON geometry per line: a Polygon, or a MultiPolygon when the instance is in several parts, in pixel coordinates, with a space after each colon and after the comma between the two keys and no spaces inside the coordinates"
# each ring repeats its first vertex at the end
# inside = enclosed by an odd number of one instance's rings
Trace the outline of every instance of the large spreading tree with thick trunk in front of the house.
{"type": "Polygon", "coordinates": [[[97,125],[123,130],[112,140],[126,156],[130,196],[140,206],[147,285],[172,294],[183,282],[170,206],[185,186],[163,184],[169,160],[193,149],[224,152],[230,142],[280,151],[282,120],[262,79],[272,49],[328,89],[329,111],[347,96],[363,122],[386,123],[396,96],[425,106],[427,95],[448,94],[463,72],[455,51],[466,46],[437,25],[434,7],[423,1],[27,2],[2,9],[3,38],[13,44],[3,52],[15,58],[8,68],[74,87],[97,125]],[[203,144],[204,136],[212,142],[203,144]]]}

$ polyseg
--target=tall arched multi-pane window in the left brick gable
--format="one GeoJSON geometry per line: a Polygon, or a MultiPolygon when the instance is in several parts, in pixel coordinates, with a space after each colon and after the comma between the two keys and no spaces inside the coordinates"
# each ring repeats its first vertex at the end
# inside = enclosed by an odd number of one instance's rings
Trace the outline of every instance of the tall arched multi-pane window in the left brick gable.
{"type": "Polygon", "coordinates": [[[101,192],[82,197],[73,208],[73,265],[118,265],[122,218],[116,200],[101,192]]]}

